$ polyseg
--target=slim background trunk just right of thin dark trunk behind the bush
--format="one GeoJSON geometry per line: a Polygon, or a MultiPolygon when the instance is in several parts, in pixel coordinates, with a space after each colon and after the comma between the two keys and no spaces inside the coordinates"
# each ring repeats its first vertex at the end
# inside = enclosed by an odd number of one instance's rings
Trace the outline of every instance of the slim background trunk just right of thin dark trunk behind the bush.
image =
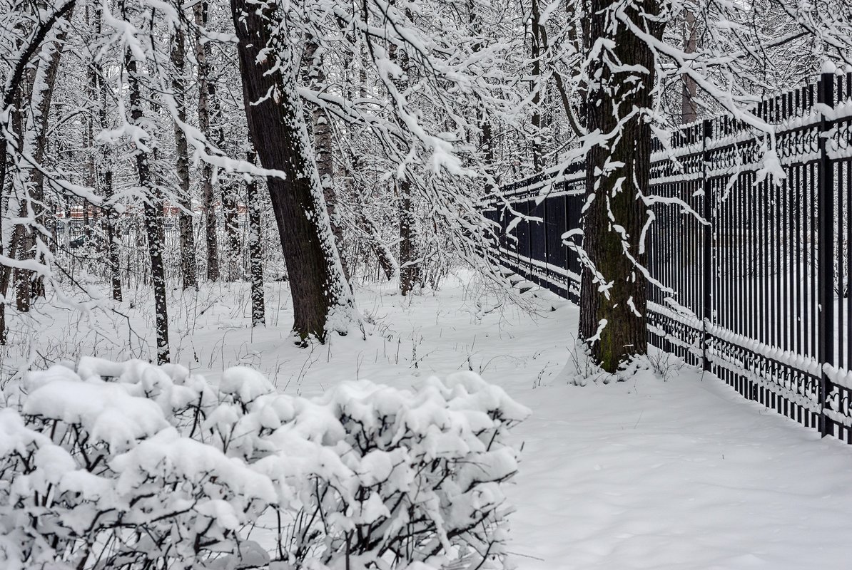
{"type": "MultiPolygon", "coordinates": [[[[178,27],[171,40],[171,62],[175,66],[175,76],[171,89],[175,97],[177,118],[187,122],[187,94],[184,85],[186,77],[186,38],[178,27]]],[[[189,149],[187,134],[175,124],[176,170],[181,208],[178,208],[177,224],[181,242],[181,277],[184,290],[198,288],[198,268],[195,264],[195,237],[193,235],[193,199],[189,193],[189,149]]]]}

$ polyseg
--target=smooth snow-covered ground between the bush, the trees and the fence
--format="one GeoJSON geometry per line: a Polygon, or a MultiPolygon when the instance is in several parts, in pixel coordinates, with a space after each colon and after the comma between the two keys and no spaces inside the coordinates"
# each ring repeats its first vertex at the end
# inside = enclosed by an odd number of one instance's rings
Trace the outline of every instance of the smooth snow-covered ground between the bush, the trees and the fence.
{"type": "MultiPolygon", "coordinates": [[[[584,379],[578,312],[566,301],[538,299],[531,315],[467,279],[411,299],[371,286],[357,292],[366,340],[299,349],[285,284],[268,285],[270,324],[256,330],[245,285],[175,295],[173,355],[211,379],[245,364],[309,395],[343,379],[408,386],[472,369],[532,408],[514,431],[521,472],[509,489],[509,550],[522,569],[852,567],[852,448],[659,354],[650,361],[662,374],[584,379]]],[[[146,294],[129,296],[88,319],[50,308],[36,324],[15,321],[3,373],[27,357],[43,366],[81,353],[147,356],[146,294]]]]}

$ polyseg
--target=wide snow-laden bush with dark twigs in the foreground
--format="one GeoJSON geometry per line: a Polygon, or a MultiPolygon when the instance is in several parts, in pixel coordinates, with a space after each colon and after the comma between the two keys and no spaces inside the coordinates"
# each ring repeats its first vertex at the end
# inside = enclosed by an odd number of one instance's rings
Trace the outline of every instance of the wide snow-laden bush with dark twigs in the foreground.
{"type": "Polygon", "coordinates": [[[0,567],[504,564],[528,411],[474,373],[309,400],[246,368],[87,358],[3,396],[0,567]]]}

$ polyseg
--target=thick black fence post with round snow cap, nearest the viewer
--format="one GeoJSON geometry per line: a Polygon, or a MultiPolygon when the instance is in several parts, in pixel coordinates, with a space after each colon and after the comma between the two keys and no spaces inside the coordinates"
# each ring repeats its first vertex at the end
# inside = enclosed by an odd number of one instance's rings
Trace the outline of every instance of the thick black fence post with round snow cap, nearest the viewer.
{"type": "MultiPolygon", "coordinates": [[[[820,312],[818,316],[819,345],[817,360],[821,364],[834,362],[834,165],[828,157],[829,130],[832,120],[826,117],[825,107],[834,107],[834,66],[822,66],[817,102],[822,105],[820,118],[820,177],[817,198],[817,283],[820,312]]],[[[832,389],[825,370],[820,370],[820,434],[834,434],[834,423],[826,416],[830,409],[828,394],[832,389]]]]}

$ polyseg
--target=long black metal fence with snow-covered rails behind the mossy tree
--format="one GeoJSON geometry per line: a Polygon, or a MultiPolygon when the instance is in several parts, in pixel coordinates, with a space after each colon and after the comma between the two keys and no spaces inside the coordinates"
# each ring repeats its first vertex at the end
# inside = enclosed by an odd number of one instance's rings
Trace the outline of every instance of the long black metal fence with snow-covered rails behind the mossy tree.
{"type": "MultiPolygon", "coordinates": [[[[648,338],[852,443],[852,73],[824,73],[756,115],[774,141],[728,116],[654,141],[648,338]]],[[[551,169],[486,207],[500,263],[575,302],[580,265],[565,241],[579,239],[584,172],[583,161],[551,169]]]]}

